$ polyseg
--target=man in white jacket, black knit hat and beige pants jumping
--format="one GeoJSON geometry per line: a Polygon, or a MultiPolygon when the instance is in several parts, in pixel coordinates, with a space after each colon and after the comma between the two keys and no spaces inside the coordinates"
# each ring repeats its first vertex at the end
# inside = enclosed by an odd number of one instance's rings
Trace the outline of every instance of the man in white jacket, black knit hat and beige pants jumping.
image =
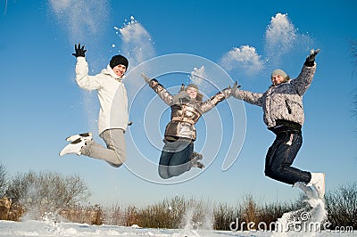
{"type": "Polygon", "coordinates": [[[114,55],[106,69],[95,76],[88,75],[88,63],[84,46],[75,45],[77,58],[76,82],[79,87],[96,90],[100,102],[98,134],[104,140],[106,148],[95,143],[92,134],[71,135],[71,142],[60,152],[60,156],[75,153],[95,159],[103,159],[112,167],[119,168],[126,159],[125,130],[128,127],[128,97],[122,82],[129,62],[122,55],[114,55]]]}

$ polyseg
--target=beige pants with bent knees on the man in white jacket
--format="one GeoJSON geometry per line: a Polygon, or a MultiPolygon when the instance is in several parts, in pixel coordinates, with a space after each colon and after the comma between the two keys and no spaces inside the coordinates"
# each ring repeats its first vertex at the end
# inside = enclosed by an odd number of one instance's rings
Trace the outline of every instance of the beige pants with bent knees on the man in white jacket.
{"type": "Polygon", "coordinates": [[[88,141],[87,145],[80,150],[82,155],[103,159],[112,167],[119,168],[127,159],[124,130],[107,129],[99,136],[104,140],[106,148],[94,141],[88,141]]]}

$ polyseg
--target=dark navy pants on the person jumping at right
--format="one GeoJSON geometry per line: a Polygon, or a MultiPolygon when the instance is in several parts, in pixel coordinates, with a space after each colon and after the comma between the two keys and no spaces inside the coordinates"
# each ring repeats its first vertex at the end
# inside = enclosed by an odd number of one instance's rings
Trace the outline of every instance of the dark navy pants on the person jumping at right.
{"type": "Polygon", "coordinates": [[[310,172],[291,167],[302,144],[301,130],[279,132],[265,159],[265,176],[286,184],[309,183],[310,172]]]}

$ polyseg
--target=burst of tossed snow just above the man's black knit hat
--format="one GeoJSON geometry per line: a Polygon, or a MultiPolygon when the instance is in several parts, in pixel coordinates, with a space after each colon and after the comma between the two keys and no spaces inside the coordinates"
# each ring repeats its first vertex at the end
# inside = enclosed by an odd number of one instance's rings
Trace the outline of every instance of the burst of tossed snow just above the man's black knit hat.
{"type": "Polygon", "coordinates": [[[129,60],[129,68],[134,68],[139,63],[151,59],[155,55],[154,43],[150,34],[133,16],[123,27],[114,27],[116,34],[120,33],[121,51],[129,60]]]}

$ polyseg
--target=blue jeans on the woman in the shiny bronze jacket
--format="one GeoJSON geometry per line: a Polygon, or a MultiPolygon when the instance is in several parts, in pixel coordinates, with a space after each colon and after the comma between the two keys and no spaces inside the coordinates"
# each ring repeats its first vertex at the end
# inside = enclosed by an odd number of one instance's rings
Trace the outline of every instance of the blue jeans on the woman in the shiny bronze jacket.
{"type": "Polygon", "coordinates": [[[159,176],[167,179],[187,172],[190,169],[188,161],[194,152],[194,143],[164,142],[159,162],[159,176]]]}

